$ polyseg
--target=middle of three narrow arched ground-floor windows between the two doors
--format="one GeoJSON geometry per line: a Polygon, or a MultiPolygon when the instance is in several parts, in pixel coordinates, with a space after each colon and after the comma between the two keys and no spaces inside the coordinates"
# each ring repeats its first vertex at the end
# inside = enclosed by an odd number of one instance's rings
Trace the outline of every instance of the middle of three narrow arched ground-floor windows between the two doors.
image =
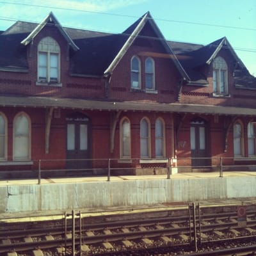
{"type": "Polygon", "coordinates": [[[143,118],[140,122],[140,156],[150,156],[150,124],[147,118],[143,118]]]}

